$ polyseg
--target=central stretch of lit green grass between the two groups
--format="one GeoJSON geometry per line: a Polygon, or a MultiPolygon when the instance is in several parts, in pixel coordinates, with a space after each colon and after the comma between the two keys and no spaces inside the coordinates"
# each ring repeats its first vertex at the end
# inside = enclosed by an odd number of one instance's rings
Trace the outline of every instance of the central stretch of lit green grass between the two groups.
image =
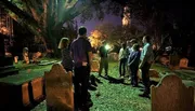
{"type": "Polygon", "coordinates": [[[117,63],[109,63],[108,75],[110,79],[92,74],[102,83],[98,83],[96,91],[90,91],[93,107],[90,111],[151,111],[151,99],[139,97],[141,87],[132,87],[128,75],[123,82],[119,79],[117,63]]]}

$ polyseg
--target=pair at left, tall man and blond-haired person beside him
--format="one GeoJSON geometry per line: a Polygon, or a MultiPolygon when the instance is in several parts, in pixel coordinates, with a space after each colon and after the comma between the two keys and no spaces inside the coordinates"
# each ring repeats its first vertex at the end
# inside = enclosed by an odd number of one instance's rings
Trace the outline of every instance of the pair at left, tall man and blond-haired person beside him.
{"type": "Polygon", "coordinates": [[[91,106],[88,87],[92,47],[87,39],[86,27],[79,27],[78,34],[70,46],[68,38],[62,38],[58,48],[62,51],[62,66],[66,71],[74,72],[75,110],[87,111],[91,106]]]}

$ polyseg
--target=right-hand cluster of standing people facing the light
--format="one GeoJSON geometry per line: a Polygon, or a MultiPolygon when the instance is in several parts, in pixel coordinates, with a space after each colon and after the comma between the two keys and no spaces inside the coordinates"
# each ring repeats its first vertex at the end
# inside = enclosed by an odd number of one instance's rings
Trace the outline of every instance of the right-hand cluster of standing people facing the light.
{"type": "Polygon", "coordinates": [[[150,68],[154,61],[153,47],[151,44],[151,38],[144,36],[142,39],[143,48],[140,51],[140,45],[135,39],[122,43],[119,51],[119,75],[123,78],[126,68],[128,68],[131,80],[131,85],[138,87],[138,71],[141,69],[142,82],[144,85],[144,93],[139,95],[141,97],[150,97],[150,68]],[[128,67],[126,67],[128,66],[128,67]]]}

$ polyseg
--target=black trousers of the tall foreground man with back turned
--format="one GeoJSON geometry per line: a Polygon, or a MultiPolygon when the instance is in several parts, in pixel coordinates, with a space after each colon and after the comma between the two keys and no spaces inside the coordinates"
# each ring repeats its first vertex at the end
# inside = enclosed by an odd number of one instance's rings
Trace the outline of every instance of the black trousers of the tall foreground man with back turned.
{"type": "Polygon", "coordinates": [[[87,105],[89,87],[89,67],[75,68],[74,87],[75,87],[75,108],[81,108],[87,105]]]}

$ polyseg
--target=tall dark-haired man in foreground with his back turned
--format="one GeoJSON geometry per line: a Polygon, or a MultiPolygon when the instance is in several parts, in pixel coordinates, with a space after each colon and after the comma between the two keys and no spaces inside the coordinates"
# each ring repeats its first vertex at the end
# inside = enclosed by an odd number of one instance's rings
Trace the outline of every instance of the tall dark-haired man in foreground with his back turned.
{"type": "Polygon", "coordinates": [[[73,41],[70,46],[72,56],[74,58],[74,87],[75,87],[75,106],[84,110],[89,108],[88,87],[90,65],[92,60],[92,48],[87,40],[87,28],[79,27],[79,37],[73,41]]]}

